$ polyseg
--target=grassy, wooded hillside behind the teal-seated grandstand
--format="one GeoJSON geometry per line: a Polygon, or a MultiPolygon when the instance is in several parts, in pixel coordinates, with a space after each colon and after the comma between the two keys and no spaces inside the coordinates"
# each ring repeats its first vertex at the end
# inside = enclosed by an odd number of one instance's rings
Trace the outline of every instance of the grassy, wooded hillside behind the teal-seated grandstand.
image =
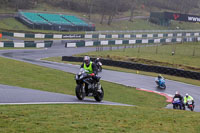
{"type": "MultiPolygon", "coordinates": [[[[19,0],[21,1],[21,0],[19,0]]],[[[63,1],[65,7],[61,5],[61,0],[58,1],[48,1],[48,0],[27,0],[27,4],[29,6],[23,7],[22,5],[14,6],[14,2],[11,3],[2,3],[0,14],[4,13],[16,13],[17,10],[34,10],[34,11],[45,11],[45,12],[62,12],[66,14],[72,14],[77,15],[78,17],[86,20],[91,21],[95,23],[96,30],[168,30],[168,29],[176,29],[176,27],[180,27],[180,29],[200,29],[200,25],[196,23],[185,23],[185,22],[176,22],[172,21],[171,25],[169,27],[163,27],[159,25],[152,24],[148,22],[148,17],[151,11],[173,11],[173,12],[180,12],[178,8],[172,8],[170,7],[170,3],[168,3],[168,6],[164,6],[162,4],[165,3],[163,0],[161,1],[154,1],[150,2],[147,0],[146,2],[138,2],[134,1],[134,6],[130,6],[131,0],[116,0],[118,1],[118,6],[116,9],[116,12],[114,15],[112,12],[107,11],[105,7],[105,12],[99,11],[99,8],[102,8],[100,5],[102,3],[98,3],[98,0],[96,4],[98,4],[98,7],[93,5],[91,15],[89,13],[89,9],[91,7],[91,3],[89,0],[84,1],[81,0],[70,0],[72,3],[69,3],[69,0],[63,1]],[[30,2],[33,2],[32,6],[30,5],[30,2]],[[71,4],[72,7],[69,7],[71,4]],[[3,6],[4,5],[4,6],[3,6]],[[76,5],[76,6],[75,6],[76,5]],[[151,6],[150,6],[151,5],[151,6]],[[84,7],[87,9],[84,10],[84,7]],[[126,8],[127,7],[127,8],[126,8]],[[170,7],[170,8],[169,8],[170,7]],[[134,10],[132,10],[134,9],[134,10]],[[132,12],[132,21],[129,21],[130,16],[132,12]],[[112,14],[112,16],[110,15],[112,14]],[[110,20],[110,17],[112,17],[112,20],[110,20]],[[90,19],[90,20],[89,20],[90,19]],[[110,22],[111,21],[111,22],[110,22]]],[[[114,0],[115,1],[115,0],[114,0]]],[[[95,3],[95,2],[94,2],[95,3]]],[[[104,3],[106,4],[106,3],[104,3]]],[[[110,5],[111,6],[111,5],[110,5]]],[[[104,8],[103,8],[104,9],[104,8]]],[[[191,10],[189,10],[189,13],[196,14],[199,11],[199,7],[195,6],[191,10]]],[[[22,25],[18,21],[16,21],[13,18],[4,18],[0,19],[0,31],[3,30],[17,30],[17,31],[28,31],[28,32],[34,32],[35,30],[29,29],[28,27],[22,25]]],[[[36,32],[44,32],[37,30],[36,32]]],[[[52,32],[52,31],[45,31],[45,32],[52,32]]]]}

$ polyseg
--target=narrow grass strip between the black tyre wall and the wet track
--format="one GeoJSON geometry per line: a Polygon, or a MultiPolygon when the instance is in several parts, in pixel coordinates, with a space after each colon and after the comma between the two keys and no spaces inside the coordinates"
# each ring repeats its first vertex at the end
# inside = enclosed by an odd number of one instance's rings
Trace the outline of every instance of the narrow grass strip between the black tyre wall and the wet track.
{"type": "MultiPolygon", "coordinates": [[[[80,62],[62,61],[62,57],[50,57],[50,58],[45,58],[44,60],[53,61],[53,62],[60,62],[60,63],[69,63],[69,64],[75,64],[75,65],[81,64],[80,62]]],[[[148,76],[153,76],[153,77],[158,76],[158,73],[137,71],[137,70],[131,70],[131,69],[120,68],[120,67],[105,66],[105,65],[103,65],[103,69],[115,70],[115,71],[127,72],[127,73],[134,73],[134,74],[141,74],[141,75],[148,75],[148,76]]],[[[162,74],[162,75],[166,79],[180,81],[180,82],[184,82],[184,83],[187,83],[187,84],[193,84],[193,85],[200,86],[199,80],[188,79],[188,78],[183,78],[183,77],[176,77],[176,76],[171,76],[171,75],[166,75],[166,74],[162,74]]]]}

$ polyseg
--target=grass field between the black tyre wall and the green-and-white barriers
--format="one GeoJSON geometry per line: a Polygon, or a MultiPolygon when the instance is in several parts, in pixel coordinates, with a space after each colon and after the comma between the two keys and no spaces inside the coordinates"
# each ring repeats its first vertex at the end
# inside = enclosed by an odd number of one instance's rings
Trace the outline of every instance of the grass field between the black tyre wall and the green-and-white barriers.
{"type": "MultiPolygon", "coordinates": [[[[150,65],[159,65],[200,71],[200,43],[166,44],[161,46],[126,48],[112,51],[89,52],[77,56],[89,55],[91,57],[109,58],[150,65]],[[175,55],[172,51],[175,49],[175,55]]],[[[128,47],[128,45],[127,45],[128,47]]]]}

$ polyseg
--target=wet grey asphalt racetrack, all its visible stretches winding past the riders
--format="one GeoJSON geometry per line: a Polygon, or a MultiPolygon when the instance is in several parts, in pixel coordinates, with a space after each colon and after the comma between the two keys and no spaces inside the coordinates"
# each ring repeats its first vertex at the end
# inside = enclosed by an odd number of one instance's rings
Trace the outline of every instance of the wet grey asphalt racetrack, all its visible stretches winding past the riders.
{"type": "MultiPolygon", "coordinates": [[[[109,48],[108,48],[109,49],[109,48]]],[[[56,41],[51,48],[45,49],[18,49],[18,50],[1,50],[0,56],[11,58],[35,65],[49,67],[64,72],[76,74],[80,66],[50,62],[40,60],[47,57],[72,56],[74,54],[95,51],[95,47],[65,48],[61,41],[56,41]]],[[[125,86],[136,87],[147,91],[156,91],[164,95],[173,96],[178,90],[182,95],[189,93],[195,100],[195,111],[200,112],[200,86],[190,85],[172,80],[166,80],[166,90],[158,90],[155,84],[155,77],[144,76],[132,73],[103,70],[99,73],[104,81],[109,81],[125,86]]],[[[75,83],[75,82],[74,82],[75,83]]],[[[0,85],[0,104],[57,104],[57,103],[74,103],[74,104],[106,104],[106,105],[125,105],[120,103],[102,101],[96,102],[94,99],[85,99],[79,101],[76,96],[45,92],[27,88],[0,85]]],[[[167,108],[172,108],[169,105],[167,108]]]]}

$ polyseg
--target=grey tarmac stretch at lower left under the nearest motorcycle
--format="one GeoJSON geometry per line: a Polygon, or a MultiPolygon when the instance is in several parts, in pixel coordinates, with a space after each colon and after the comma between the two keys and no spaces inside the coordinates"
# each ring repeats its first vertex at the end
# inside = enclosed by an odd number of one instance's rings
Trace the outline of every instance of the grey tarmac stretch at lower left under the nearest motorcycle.
{"type": "Polygon", "coordinates": [[[104,104],[122,105],[126,104],[102,101],[95,102],[93,99],[85,98],[84,101],[78,100],[75,96],[52,93],[40,90],[33,90],[21,87],[0,85],[0,105],[7,104],[104,104]]]}

